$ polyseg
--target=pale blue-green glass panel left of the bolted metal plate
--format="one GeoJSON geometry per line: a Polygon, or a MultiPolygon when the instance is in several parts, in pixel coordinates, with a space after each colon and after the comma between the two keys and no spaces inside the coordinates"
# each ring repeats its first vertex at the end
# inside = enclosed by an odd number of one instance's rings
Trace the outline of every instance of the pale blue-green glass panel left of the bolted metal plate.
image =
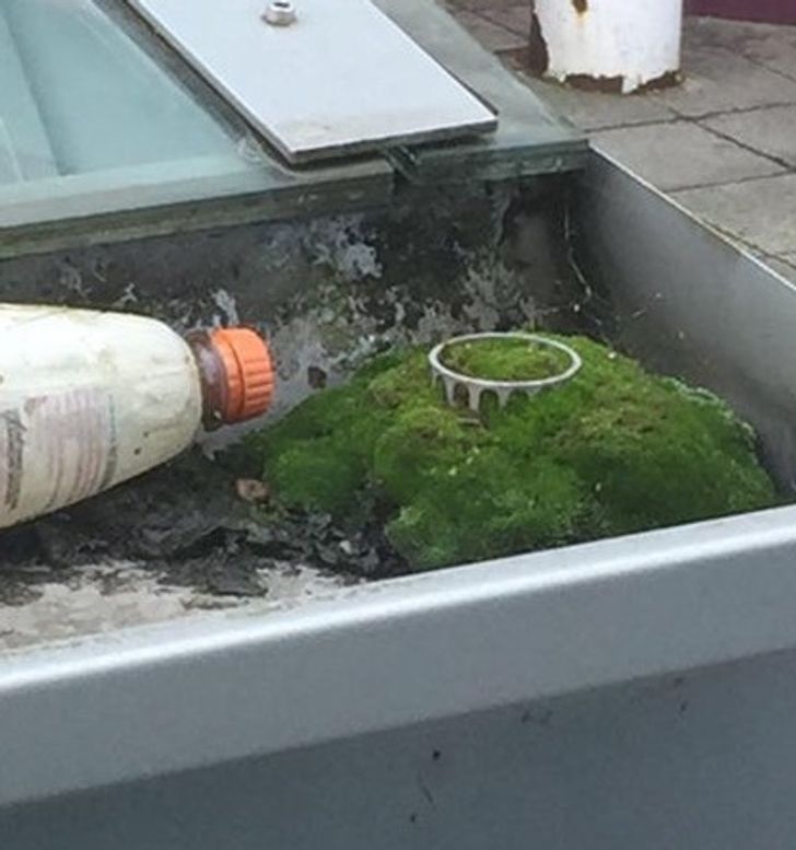
{"type": "MultiPolygon", "coordinates": [[[[261,173],[246,130],[200,104],[91,0],[0,0],[0,225],[32,199],[102,195],[99,208],[138,206],[176,184],[261,173]],[[103,194],[104,193],[104,194],[103,194]]],[[[92,205],[83,203],[82,213],[92,205]]]]}

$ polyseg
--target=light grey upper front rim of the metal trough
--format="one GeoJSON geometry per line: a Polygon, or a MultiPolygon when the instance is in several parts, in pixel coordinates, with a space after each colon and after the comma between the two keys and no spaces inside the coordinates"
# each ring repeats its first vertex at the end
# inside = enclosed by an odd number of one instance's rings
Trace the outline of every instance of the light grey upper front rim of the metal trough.
{"type": "Polygon", "coordinates": [[[0,806],[796,647],[796,509],[10,655],[0,806]]]}

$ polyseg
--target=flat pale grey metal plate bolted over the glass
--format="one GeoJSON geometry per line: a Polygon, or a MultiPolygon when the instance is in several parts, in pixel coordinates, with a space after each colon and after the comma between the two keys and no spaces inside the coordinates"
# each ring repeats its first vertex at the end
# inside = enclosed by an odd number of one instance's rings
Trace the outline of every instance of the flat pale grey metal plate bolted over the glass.
{"type": "Polygon", "coordinates": [[[291,163],[497,126],[371,0],[300,0],[283,26],[260,0],[127,2],[291,163]]]}

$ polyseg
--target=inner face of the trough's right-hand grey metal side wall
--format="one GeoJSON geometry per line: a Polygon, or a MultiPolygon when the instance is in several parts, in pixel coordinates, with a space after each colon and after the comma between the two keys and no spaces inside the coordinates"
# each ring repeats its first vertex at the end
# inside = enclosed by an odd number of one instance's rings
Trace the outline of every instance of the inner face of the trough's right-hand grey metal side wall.
{"type": "Polygon", "coordinates": [[[611,339],[726,398],[796,490],[796,287],[602,154],[575,198],[578,263],[610,302],[611,339]]]}

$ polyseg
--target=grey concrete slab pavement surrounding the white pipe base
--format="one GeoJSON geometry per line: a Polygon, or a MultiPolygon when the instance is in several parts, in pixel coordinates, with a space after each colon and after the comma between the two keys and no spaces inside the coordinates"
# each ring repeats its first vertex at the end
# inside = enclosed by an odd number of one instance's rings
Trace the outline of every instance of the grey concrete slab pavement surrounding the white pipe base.
{"type": "Polygon", "coordinates": [[[529,74],[529,0],[447,4],[596,148],[796,281],[796,26],[687,19],[682,85],[621,96],[529,74]]]}

